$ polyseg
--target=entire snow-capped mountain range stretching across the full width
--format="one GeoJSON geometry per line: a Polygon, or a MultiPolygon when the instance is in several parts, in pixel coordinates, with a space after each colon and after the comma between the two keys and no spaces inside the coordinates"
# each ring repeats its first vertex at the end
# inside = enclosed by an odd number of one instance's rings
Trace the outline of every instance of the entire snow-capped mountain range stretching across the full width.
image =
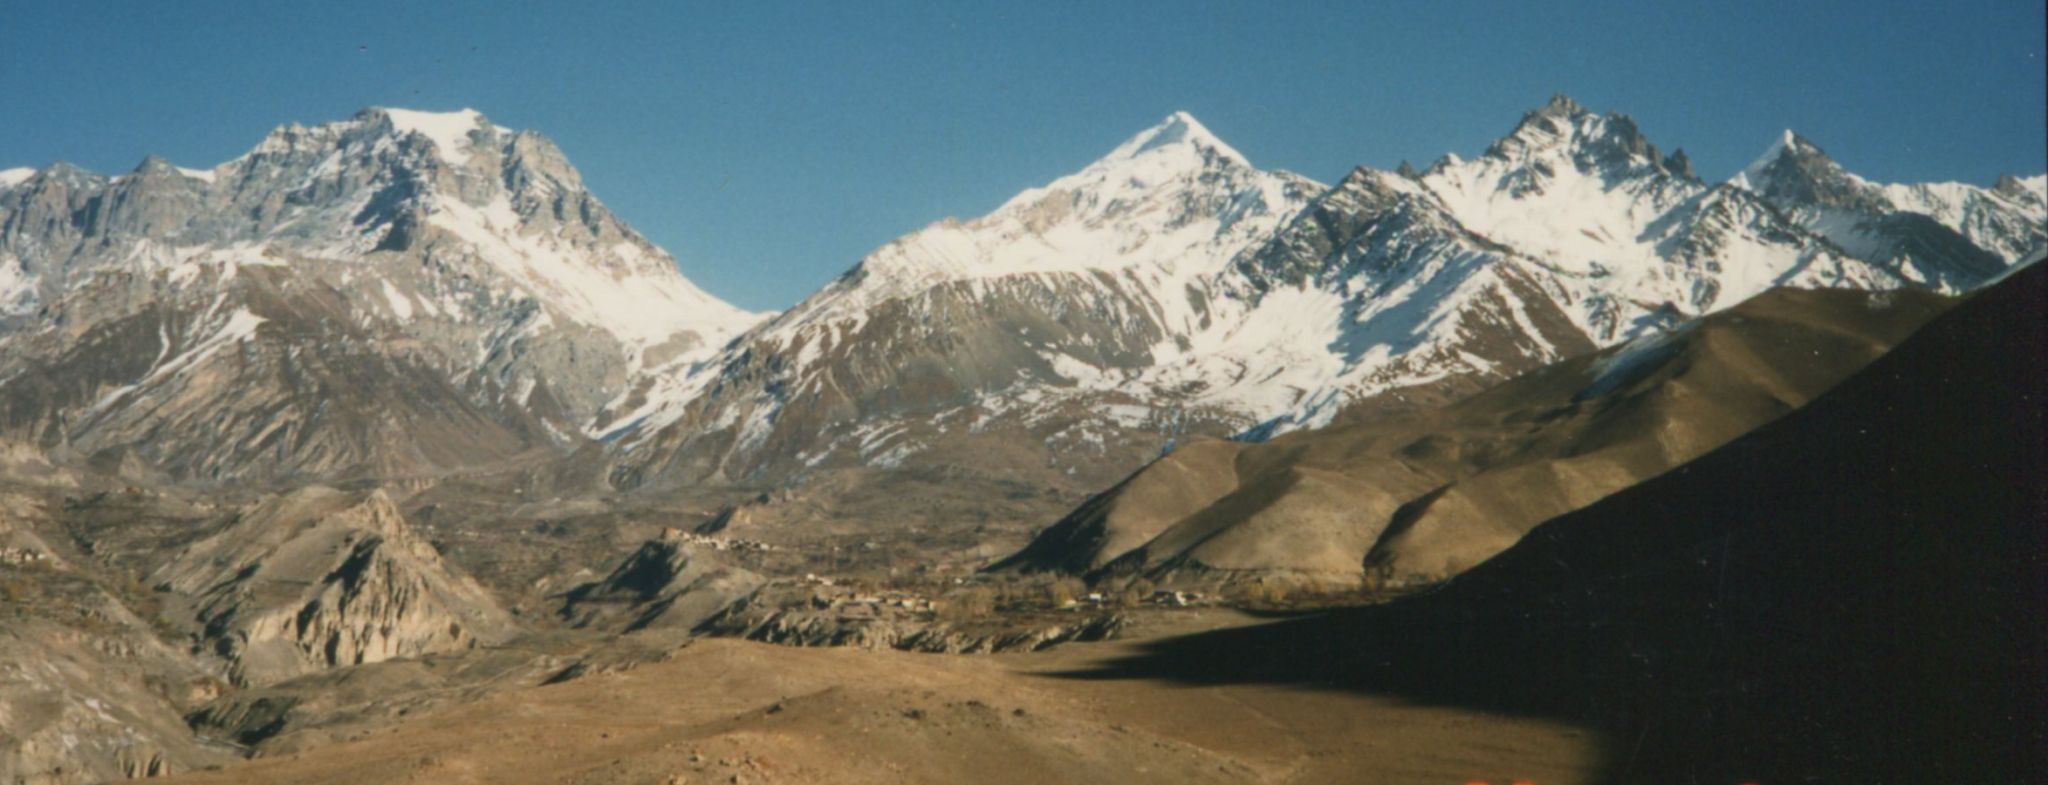
{"type": "Polygon", "coordinates": [[[371,109],[211,170],[0,174],[0,435],[203,484],[580,453],[612,488],[1100,486],[1180,435],[1448,400],[1774,285],[1966,291],[2044,215],[2042,176],[1876,184],[1792,133],[1704,182],[1565,96],[1473,160],[1333,187],[1176,113],[748,314],[547,137],[371,109]]]}

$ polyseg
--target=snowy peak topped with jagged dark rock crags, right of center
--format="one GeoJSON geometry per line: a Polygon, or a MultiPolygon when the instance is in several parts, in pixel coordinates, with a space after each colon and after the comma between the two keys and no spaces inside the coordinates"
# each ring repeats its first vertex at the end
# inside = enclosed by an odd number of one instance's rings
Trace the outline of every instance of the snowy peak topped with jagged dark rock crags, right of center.
{"type": "Polygon", "coordinates": [[[1700,182],[1626,115],[1565,96],[1524,115],[1485,156],[1446,156],[1419,182],[1473,234],[1542,260],[1599,344],[1772,285],[1894,279],[1747,193],[1700,182]]]}

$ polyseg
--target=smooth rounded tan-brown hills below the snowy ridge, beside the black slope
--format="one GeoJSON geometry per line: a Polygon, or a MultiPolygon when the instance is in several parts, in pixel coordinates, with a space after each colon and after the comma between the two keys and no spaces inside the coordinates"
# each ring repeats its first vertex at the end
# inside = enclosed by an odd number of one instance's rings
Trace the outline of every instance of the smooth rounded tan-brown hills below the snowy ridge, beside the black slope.
{"type": "Polygon", "coordinates": [[[1260,445],[1192,441],[1004,566],[1438,582],[1806,404],[1948,303],[1921,291],[1778,289],[1446,408],[1260,445]]]}

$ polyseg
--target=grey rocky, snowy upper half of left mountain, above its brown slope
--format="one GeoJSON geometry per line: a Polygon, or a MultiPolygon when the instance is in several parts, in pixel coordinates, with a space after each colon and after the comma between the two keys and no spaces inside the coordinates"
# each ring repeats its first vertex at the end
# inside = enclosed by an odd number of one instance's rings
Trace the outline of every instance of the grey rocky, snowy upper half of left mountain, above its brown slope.
{"type": "MultiPolygon", "coordinates": [[[[293,291],[336,293],[354,328],[424,342],[451,383],[530,404],[557,435],[586,428],[625,379],[709,357],[764,318],[684,279],[553,141],[467,109],[283,125],[211,170],[152,156],[113,178],[57,164],[10,180],[0,320],[70,307],[111,271],[211,303],[264,266],[293,291]]],[[[0,322],[0,338],[59,322],[0,322]]]]}

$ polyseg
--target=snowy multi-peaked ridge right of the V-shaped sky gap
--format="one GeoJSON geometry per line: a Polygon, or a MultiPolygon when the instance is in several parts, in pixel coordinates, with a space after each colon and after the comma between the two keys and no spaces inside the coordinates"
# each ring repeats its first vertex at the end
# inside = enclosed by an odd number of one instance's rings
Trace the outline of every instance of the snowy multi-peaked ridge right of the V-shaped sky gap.
{"type": "Polygon", "coordinates": [[[987,432],[1098,476],[1118,461],[1092,457],[1178,435],[1450,400],[1772,287],[1964,291],[2003,268],[1978,242],[2040,244],[2038,199],[2009,201],[2005,223],[1894,207],[1946,234],[1868,252],[1751,187],[1704,182],[1628,117],[1563,96],[1475,160],[1360,168],[1329,189],[1260,172],[1174,115],[987,217],[877,250],[649,385],[616,432],[614,480],[1018,463],[958,447],[1001,441],[987,432]]]}

